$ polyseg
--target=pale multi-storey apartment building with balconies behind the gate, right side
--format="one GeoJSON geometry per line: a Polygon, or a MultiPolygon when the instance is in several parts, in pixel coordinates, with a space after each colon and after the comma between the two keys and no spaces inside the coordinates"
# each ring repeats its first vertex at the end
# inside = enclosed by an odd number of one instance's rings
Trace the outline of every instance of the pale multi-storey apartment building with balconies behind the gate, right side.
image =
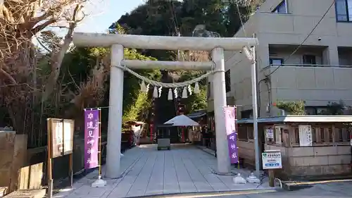
{"type": "MultiPolygon", "coordinates": [[[[352,0],[266,0],[234,37],[252,35],[259,41],[260,117],[277,116],[272,104],[278,100],[303,100],[310,114],[329,102],[352,105],[352,0]]],[[[250,63],[239,51],[225,51],[225,70],[227,104],[238,105],[239,118],[249,118],[250,63]]],[[[210,92],[208,111],[213,108],[210,92]]]]}

